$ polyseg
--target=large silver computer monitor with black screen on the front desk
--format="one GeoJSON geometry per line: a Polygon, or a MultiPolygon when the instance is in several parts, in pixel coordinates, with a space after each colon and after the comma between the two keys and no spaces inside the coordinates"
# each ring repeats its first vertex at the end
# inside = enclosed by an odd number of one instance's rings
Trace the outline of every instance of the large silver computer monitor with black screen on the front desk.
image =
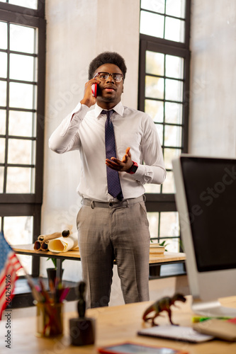
{"type": "Polygon", "coordinates": [[[172,164],[193,312],[236,316],[218,301],[236,295],[236,159],[182,154],[172,164]]]}

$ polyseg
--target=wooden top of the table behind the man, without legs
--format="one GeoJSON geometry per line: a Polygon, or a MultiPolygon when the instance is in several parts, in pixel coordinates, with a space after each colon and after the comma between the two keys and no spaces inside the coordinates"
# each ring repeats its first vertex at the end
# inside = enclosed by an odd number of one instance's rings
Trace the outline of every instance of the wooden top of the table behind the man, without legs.
{"type": "MultiPolygon", "coordinates": [[[[80,261],[79,249],[71,250],[67,252],[54,253],[50,251],[35,251],[33,249],[33,244],[23,244],[23,245],[14,245],[12,246],[13,250],[19,254],[32,254],[32,256],[53,256],[58,258],[74,258],[74,260],[80,261]]],[[[176,252],[164,252],[164,256],[152,256],[150,254],[149,263],[166,263],[166,262],[178,262],[185,261],[185,253],[176,253],[176,252]]]]}

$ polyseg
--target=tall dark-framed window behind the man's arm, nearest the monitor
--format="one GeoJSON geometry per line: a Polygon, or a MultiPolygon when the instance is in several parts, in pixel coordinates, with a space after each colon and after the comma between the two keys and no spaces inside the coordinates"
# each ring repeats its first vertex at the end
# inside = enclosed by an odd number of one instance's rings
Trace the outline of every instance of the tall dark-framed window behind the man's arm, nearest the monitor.
{"type": "Polygon", "coordinates": [[[140,1],[139,109],[154,120],[167,179],[145,185],[153,241],[179,251],[172,159],[187,152],[189,115],[190,0],[140,1]]]}

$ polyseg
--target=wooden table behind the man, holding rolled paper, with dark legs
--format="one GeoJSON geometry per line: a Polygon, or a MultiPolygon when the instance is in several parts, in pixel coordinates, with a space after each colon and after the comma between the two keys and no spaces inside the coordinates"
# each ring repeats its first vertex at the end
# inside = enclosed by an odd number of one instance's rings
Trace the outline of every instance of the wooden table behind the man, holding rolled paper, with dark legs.
{"type": "MultiPolygon", "coordinates": [[[[33,249],[33,244],[24,244],[24,245],[16,245],[12,246],[13,250],[18,254],[26,254],[28,256],[38,256],[38,257],[49,257],[49,258],[57,258],[58,265],[57,268],[61,268],[62,259],[70,259],[74,261],[80,261],[79,250],[76,251],[67,251],[61,253],[53,253],[50,251],[35,251],[33,249]]],[[[185,253],[175,253],[175,252],[164,252],[164,256],[152,256],[150,255],[150,276],[152,278],[159,277],[160,266],[164,264],[172,264],[172,263],[184,263],[186,260],[185,253]]]]}

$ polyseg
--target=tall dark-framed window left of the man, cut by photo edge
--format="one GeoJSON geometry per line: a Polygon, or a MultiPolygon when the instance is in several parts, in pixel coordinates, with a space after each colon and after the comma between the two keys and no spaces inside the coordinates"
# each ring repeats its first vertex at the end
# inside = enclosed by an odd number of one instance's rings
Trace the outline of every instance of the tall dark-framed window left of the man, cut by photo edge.
{"type": "MultiPolygon", "coordinates": [[[[44,12],[42,0],[0,1],[0,226],[10,244],[32,244],[40,234],[44,12]]],[[[19,258],[38,275],[38,260],[19,258]]]]}

